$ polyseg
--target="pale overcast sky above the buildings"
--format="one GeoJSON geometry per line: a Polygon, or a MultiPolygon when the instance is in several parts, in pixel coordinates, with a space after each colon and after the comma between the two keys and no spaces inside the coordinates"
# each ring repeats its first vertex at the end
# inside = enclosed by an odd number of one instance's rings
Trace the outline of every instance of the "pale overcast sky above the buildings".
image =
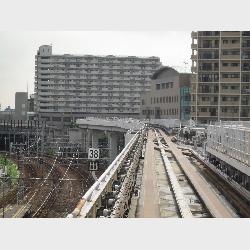
{"type": "Polygon", "coordinates": [[[53,54],[158,56],[180,72],[191,67],[191,31],[0,31],[2,110],[15,107],[15,92],[28,86],[34,93],[35,55],[44,44],[53,54]]]}

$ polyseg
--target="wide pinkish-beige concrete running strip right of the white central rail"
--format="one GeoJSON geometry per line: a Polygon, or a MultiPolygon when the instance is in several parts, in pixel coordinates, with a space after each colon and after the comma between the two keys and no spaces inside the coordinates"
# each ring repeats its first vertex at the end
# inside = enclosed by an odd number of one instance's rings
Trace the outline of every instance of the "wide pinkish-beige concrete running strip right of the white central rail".
{"type": "Polygon", "coordinates": [[[193,184],[197,193],[205,203],[211,215],[216,218],[235,217],[234,212],[230,208],[225,206],[225,204],[219,199],[219,197],[209,188],[207,182],[196,173],[196,170],[194,169],[192,164],[182,154],[181,150],[179,150],[177,146],[171,141],[171,138],[167,136],[163,131],[160,131],[160,133],[167,142],[176,160],[181,165],[183,171],[193,184]]]}

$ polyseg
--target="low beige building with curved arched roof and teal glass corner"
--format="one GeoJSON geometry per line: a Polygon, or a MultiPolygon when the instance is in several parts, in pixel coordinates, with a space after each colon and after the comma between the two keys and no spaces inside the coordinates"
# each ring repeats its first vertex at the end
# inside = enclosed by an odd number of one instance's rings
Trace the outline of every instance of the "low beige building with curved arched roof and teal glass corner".
{"type": "Polygon", "coordinates": [[[151,89],[141,100],[143,119],[188,119],[191,74],[162,67],[151,78],[151,89]]]}

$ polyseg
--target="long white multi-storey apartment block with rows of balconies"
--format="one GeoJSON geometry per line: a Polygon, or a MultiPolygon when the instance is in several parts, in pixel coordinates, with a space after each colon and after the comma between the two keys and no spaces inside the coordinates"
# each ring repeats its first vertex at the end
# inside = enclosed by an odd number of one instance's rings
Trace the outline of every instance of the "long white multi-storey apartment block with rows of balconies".
{"type": "Polygon", "coordinates": [[[49,122],[86,116],[138,117],[140,97],[161,67],[158,57],[55,55],[40,46],[36,55],[35,112],[49,122]]]}

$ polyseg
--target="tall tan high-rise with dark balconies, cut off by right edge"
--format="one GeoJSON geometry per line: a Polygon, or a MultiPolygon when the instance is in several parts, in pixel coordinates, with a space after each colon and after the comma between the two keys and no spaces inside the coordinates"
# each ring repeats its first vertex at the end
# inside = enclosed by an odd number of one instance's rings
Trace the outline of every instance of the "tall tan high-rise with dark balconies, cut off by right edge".
{"type": "Polygon", "coordinates": [[[200,122],[250,118],[250,31],[192,32],[191,117],[200,122]]]}

